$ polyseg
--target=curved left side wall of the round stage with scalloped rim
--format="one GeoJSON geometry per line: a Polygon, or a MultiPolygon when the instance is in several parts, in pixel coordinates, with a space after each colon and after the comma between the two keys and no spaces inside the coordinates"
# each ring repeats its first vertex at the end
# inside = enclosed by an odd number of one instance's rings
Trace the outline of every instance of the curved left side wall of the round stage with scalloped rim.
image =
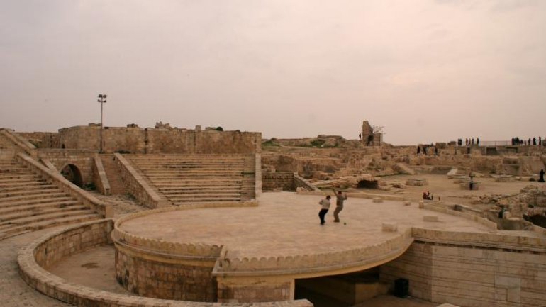
{"type": "Polygon", "coordinates": [[[216,301],[212,271],[222,247],[150,240],[119,229],[124,221],[147,214],[150,213],[135,213],[116,221],[112,238],[116,245],[118,283],[128,291],[150,298],[216,301]]]}

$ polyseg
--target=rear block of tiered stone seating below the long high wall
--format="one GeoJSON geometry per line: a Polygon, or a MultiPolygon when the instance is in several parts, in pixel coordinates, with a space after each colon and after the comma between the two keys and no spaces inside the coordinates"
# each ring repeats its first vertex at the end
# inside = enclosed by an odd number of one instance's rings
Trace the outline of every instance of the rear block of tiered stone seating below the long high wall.
{"type": "MultiPolygon", "coordinates": [[[[245,157],[237,155],[128,155],[152,188],[174,205],[242,201],[245,157]]],[[[253,186],[253,185],[252,185],[253,186]]],[[[247,189],[247,188],[245,188],[247,189]]]]}

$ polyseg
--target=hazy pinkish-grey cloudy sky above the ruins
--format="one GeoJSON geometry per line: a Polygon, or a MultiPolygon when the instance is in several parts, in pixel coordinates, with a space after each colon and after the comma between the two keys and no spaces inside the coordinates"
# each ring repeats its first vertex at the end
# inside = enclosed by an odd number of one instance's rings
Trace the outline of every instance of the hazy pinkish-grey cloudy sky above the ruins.
{"type": "Polygon", "coordinates": [[[0,0],[0,127],[546,136],[544,0],[0,0]]]}

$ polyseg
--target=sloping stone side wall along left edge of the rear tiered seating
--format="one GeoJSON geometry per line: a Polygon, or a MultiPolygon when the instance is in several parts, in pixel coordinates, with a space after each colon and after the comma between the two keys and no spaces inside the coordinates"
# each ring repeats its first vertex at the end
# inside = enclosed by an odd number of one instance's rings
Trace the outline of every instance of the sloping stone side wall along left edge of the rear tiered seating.
{"type": "Polygon", "coordinates": [[[126,158],[118,153],[114,154],[114,156],[116,157],[116,163],[118,163],[121,180],[127,191],[135,196],[135,199],[148,208],[169,206],[169,201],[161,199],[126,158]]]}

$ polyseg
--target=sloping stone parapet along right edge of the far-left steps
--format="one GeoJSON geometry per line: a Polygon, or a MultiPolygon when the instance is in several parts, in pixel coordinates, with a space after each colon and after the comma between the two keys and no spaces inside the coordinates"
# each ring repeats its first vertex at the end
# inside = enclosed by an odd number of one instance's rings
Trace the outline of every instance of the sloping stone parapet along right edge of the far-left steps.
{"type": "Polygon", "coordinates": [[[70,196],[78,199],[79,201],[82,201],[84,205],[91,207],[94,211],[96,211],[96,213],[104,216],[104,218],[113,217],[113,208],[111,205],[103,203],[86,191],[79,189],[78,186],[72,182],[69,182],[65,177],[62,177],[59,172],[48,169],[47,167],[43,166],[43,164],[40,164],[39,162],[33,160],[33,158],[22,153],[19,153],[16,156],[16,159],[18,162],[28,167],[31,172],[50,179],[59,189],[62,189],[62,191],[65,193],[70,194],[70,196]]]}

